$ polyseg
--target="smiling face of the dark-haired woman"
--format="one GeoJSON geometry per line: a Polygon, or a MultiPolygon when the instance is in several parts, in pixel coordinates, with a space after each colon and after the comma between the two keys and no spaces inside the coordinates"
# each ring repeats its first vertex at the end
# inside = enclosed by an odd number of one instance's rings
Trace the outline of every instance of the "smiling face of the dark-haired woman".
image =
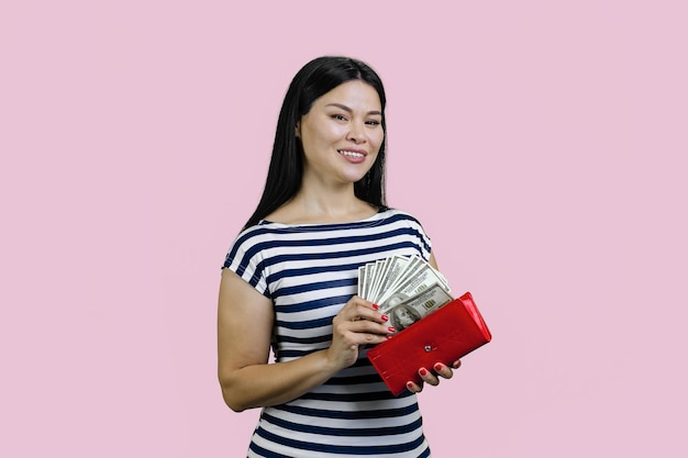
{"type": "Polygon", "coordinates": [[[353,183],[373,167],[385,138],[377,91],[360,80],[344,82],[315,100],[299,121],[303,179],[353,183]]]}

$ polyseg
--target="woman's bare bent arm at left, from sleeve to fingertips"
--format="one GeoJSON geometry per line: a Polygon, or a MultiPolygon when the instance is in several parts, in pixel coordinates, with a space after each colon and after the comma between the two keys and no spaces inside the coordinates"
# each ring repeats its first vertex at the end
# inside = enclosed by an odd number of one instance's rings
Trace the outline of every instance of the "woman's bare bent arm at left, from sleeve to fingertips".
{"type": "Polygon", "coordinates": [[[224,402],[235,412],[298,398],[353,365],[359,345],[378,344],[391,333],[374,304],[354,297],[333,320],[330,348],[268,364],[274,313],[269,299],[233,271],[222,271],[218,376],[224,402]]]}

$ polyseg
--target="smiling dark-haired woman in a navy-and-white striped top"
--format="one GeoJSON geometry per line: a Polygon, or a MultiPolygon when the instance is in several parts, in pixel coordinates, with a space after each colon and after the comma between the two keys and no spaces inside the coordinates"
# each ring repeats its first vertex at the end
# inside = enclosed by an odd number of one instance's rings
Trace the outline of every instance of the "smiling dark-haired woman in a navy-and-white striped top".
{"type": "MultiPolygon", "coordinates": [[[[395,328],[355,295],[366,262],[420,255],[436,268],[420,223],[385,204],[385,102],[377,74],[346,57],[308,63],[285,97],[263,197],[220,286],[224,400],[263,407],[249,457],[430,456],[422,387],[389,393],[366,351],[395,328]]],[[[435,386],[452,368],[419,373],[435,386]]]]}

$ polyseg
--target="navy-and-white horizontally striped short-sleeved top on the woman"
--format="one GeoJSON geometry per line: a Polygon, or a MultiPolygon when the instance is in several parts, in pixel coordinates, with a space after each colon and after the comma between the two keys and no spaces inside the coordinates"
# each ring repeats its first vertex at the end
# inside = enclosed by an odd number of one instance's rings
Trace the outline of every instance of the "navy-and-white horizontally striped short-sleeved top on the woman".
{"type": "MultiPolygon", "coordinates": [[[[224,268],[275,304],[277,361],[329,348],[332,319],[356,293],[358,267],[392,255],[430,257],[413,216],[384,209],[342,224],[262,221],[242,232],[224,268]]],[[[415,394],[391,395],[368,358],[281,405],[265,407],[248,457],[429,457],[415,394]]]]}

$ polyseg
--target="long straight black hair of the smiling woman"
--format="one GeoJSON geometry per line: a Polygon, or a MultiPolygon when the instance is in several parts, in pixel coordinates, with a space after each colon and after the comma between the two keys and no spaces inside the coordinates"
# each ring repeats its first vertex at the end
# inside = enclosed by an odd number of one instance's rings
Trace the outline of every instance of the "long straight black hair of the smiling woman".
{"type": "Polygon", "coordinates": [[[273,157],[265,180],[263,197],[244,228],[257,224],[265,216],[289,201],[299,190],[303,177],[303,152],[296,136],[296,126],[301,116],[308,114],[313,102],[332,89],[351,80],[370,85],[380,98],[382,131],[385,138],[370,170],[354,183],[354,193],[373,205],[385,208],[385,150],[387,125],[385,124],[385,88],[380,77],[367,64],[339,56],[318,57],[306,64],[293,77],[285,96],[273,157]]]}

